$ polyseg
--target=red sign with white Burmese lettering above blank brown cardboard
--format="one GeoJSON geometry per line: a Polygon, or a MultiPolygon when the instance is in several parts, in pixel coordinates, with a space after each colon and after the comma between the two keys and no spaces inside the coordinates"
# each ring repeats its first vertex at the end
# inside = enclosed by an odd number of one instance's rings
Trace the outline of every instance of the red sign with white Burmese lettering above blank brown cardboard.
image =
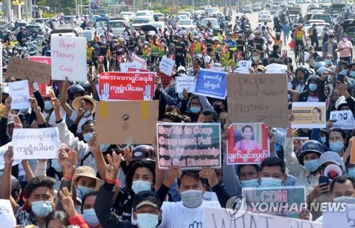
{"type": "Polygon", "coordinates": [[[101,100],[151,100],[155,72],[102,72],[99,74],[101,100]]]}

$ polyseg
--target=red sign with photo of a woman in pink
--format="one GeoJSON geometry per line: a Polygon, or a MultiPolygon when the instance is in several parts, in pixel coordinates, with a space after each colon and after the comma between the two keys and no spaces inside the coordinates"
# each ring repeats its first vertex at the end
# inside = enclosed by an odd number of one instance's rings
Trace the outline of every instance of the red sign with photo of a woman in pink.
{"type": "Polygon", "coordinates": [[[265,124],[231,124],[228,131],[228,165],[260,164],[270,156],[265,124]]]}

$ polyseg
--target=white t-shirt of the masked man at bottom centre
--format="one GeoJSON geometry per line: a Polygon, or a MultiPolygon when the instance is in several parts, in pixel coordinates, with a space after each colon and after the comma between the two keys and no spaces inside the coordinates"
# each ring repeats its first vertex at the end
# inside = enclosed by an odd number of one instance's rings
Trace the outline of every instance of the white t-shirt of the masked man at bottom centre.
{"type": "Polygon", "coordinates": [[[202,201],[199,207],[188,208],[179,202],[163,202],[162,221],[158,228],[204,228],[204,207],[221,207],[218,201],[202,201]]]}

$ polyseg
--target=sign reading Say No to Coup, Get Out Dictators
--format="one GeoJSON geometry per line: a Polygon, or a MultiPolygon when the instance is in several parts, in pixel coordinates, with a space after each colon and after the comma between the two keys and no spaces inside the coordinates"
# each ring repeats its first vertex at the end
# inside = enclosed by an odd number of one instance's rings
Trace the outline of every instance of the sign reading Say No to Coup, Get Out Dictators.
{"type": "Polygon", "coordinates": [[[157,124],[160,169],[221,168],[220,124],[157,124]]]}

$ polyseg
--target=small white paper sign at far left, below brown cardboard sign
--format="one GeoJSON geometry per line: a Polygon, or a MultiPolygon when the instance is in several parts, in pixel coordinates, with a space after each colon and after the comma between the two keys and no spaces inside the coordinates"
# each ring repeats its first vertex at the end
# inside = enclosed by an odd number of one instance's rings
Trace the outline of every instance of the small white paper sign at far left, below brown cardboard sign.
{"type": "Polygon", "coordinates": [[[12,109],[28,109],[31,107],[27,80],[9,82],[9,95],[12,109]]]}

